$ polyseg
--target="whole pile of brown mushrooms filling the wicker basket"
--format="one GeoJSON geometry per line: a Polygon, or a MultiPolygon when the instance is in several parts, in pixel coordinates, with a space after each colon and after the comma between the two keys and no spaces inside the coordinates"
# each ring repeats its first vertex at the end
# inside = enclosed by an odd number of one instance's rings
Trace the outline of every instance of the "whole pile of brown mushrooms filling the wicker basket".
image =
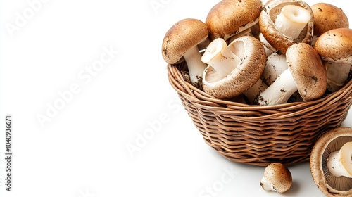
{"type": "Polygon", "coordinates": [[[186,61],[184,80],[210,96],[271,106],[341,89],[352,30],[344,11],[327,3],[222,0],[205,20],[172,25],[161,51],[170,65],[186,61]]]}

